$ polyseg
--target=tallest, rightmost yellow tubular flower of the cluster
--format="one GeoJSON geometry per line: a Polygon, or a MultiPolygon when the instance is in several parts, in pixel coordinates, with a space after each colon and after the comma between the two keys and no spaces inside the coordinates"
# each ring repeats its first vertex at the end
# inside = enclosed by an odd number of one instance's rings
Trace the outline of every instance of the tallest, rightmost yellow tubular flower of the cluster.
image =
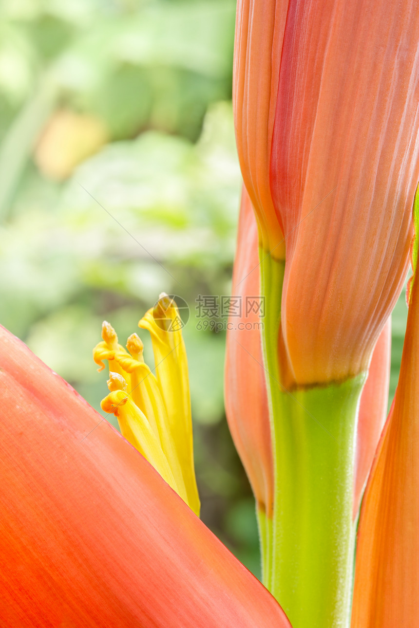
{"type": "Polygon", "coordinates": [[[193,511],[199,512],[200,502],[193,466],[188,362],[182,338],[182,322],[175,301],[161,293],[155,308],[146,312],[138,327],[151,334],[156,379],[168,416],[168,433],[177,450],[188,504],[193,511]]]}

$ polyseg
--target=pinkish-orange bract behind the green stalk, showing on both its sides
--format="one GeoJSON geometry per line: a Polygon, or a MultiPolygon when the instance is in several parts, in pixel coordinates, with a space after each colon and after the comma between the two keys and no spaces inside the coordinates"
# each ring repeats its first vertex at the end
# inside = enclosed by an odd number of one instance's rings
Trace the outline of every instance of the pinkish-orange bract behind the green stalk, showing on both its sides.
{"type": "MultiPolygon", "coordinates": [[[[232,294],[241,302],[241,316],[231,316],[226,345],[226,413],[237,452],[249,477],[258,507],[273,511],[273,460],[266,371],[263,367],[263,317],[246,312],[246,299],[260,295],[258,228],[253,207],[243,187],[232,294]],[[246,327],[246,325],[248,327],[246,327]]],[[[354,518],[359,511],[381,430],[386,418],[391,354],[391,320],[374,348],[362,390],[357,426],[354,518]]],[[[286,391],[284,389],[284,393],[286,391]]]]}

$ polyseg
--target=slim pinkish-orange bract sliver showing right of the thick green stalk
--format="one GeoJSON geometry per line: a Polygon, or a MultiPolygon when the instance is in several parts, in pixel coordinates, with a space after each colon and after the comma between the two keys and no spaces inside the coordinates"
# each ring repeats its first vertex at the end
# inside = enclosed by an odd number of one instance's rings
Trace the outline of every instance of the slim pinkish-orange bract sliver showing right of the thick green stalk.
{"type": "Polygon", "coordinates": [[[384,325],[368,369],[361,394],[356,437],[354,518],[373,464],[379,437],[386,420],[391,359],[391,318],[384,325]]]}

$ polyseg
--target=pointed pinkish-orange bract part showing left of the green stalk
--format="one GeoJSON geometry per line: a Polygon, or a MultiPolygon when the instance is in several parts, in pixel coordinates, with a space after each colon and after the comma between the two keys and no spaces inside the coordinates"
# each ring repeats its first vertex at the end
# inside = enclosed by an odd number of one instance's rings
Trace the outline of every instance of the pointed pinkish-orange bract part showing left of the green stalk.
{"type": "Polygon", "coordinates": [[[237,452],[248,474],[259,509],[272,516],[273,459],[268,396],[263,369],[260,324],[248,301],[260,295],[258,228],[243,187],[232,294],[241,315],[229,318],[226,345],[226,413],[237,452]],[[244,328],[241,328],[244,327],[244,328]]]}

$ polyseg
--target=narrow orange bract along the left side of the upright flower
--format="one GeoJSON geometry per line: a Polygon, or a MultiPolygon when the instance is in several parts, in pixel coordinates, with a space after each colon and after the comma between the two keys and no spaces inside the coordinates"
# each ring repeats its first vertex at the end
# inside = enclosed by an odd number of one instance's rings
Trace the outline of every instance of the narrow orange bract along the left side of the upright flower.
{"type": "Polygon", "coordinates": [[[285,242],[269,185],[276,92],[286,3],[239,0],[236,17],[233,106],[244,184],[261,227],[262,244],[283,259],[285,242]],[[257,18],[252,15],[257,11],[257,18]]]}

